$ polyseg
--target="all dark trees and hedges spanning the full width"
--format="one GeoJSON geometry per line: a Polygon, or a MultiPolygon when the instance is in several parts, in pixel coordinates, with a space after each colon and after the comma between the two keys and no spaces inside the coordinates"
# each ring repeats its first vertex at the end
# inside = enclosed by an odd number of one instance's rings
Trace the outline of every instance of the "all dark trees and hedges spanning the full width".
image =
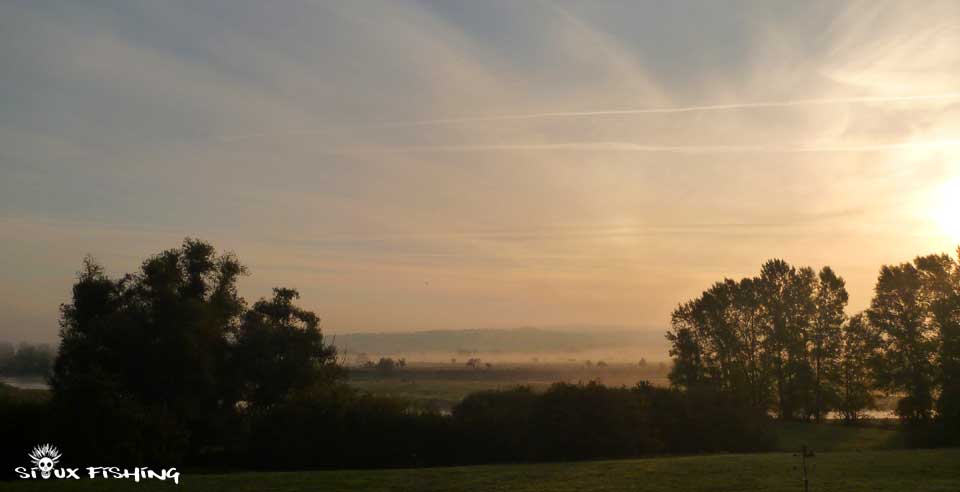
{"type": "Polygon", "coordinates": [[[752,451],[774,446],[771,413],[852,419],[877,389],[901,396],[908,422],[956,435],[960,268],[946,256],[884,267],[852,317],[832,270],[771,261],[676,310],[671,388],[487,391],[449,414],[348,387],[297,291],[248,304],[246,274],[193,239],[121,277],[85,259],[50,397],[0,392],[0,458],[37,442],[57,443],[64,466],[288,469],[752,451]]]}

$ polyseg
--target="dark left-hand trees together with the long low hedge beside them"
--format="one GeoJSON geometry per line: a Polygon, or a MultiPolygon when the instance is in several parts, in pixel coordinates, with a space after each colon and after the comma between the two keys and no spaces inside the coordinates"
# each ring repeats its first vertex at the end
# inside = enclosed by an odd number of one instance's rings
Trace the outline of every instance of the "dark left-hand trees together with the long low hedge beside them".
{"type": "Polygon", "coordinates": [[[473,394],[451,413],[358,392],[298,293],[250,305],[236,288],[246,273],[193,239],[116,278],[85,259],[50,397],[0,392],[0,458],[54,442],[64,466],[356,468],[772,445],[762,413],[710,388],[561,383],[473,394]]]}

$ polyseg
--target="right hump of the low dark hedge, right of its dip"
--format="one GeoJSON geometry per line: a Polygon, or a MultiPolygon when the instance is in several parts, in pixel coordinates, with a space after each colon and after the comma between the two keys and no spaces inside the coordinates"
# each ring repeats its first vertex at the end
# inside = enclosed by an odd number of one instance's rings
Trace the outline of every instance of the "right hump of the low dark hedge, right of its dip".
{"type": "Polygon", "coordinates": [[[453,411],[468,462],[767,449],[768,419],[735,398],[640,384],[556,383],[474,393],[453,411]]]}

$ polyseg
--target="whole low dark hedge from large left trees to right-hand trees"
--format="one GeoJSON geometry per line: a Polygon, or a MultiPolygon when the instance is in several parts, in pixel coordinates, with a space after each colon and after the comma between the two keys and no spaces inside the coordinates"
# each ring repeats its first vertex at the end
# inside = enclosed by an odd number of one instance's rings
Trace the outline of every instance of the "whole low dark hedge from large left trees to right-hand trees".
{"type": "Polygon", "coordinates": [[[253,413],[243,462],[283,469],[439,466],[761,450],[774,441],[764,415],[718,393],[557,383],[542,393],[473,393],[444,416],[337,386],[253,413]]]}

